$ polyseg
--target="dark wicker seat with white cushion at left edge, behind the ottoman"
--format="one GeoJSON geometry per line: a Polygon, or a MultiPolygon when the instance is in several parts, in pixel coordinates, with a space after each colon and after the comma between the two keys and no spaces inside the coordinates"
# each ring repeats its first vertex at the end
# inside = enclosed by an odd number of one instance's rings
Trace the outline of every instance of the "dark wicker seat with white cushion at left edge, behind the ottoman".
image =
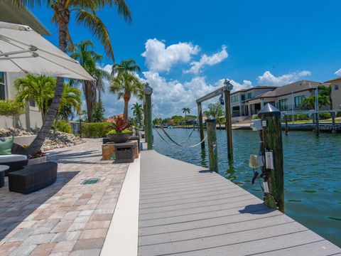
{"type": "Polygon", "coordinates": [[[11,171],[18,171],[23,169],[28,162],[27,151],[22,146],[13,143],[12,154],[0,155],[0,164],[9,166],[9,169],[5,171],[7,176],[11,171]]]}

